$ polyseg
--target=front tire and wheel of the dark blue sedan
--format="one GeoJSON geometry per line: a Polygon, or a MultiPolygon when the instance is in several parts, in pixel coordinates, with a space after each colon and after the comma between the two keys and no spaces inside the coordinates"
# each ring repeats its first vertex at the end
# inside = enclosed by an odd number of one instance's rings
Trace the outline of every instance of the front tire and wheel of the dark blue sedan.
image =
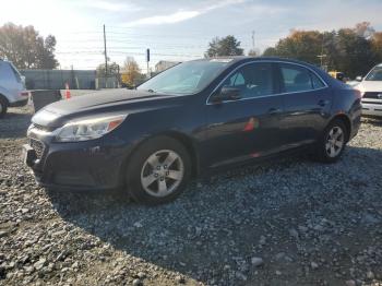
{"type": "Polygon", "coordinates": [[[126,183],[131,196],[144,204],[176,199],[191,177],[191,159],[182,144],[168,136],[144,142],[129,159],[126,183]]]}

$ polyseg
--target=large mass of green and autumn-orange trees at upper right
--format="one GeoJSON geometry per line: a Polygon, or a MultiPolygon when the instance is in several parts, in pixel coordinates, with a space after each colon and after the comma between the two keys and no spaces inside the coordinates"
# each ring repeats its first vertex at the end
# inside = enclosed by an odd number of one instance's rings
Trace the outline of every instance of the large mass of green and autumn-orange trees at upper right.
{"type": "Polygon", "coordinates": [[[363,22],[354,28],[320,33],[291,31],[263,56],[278,56],[325,65],[327,70],[342,71],[355,78],[366,74],[382,61],[382,35],[363,22]],[[322,57],[321,57],[322,56],[322,57]]]}

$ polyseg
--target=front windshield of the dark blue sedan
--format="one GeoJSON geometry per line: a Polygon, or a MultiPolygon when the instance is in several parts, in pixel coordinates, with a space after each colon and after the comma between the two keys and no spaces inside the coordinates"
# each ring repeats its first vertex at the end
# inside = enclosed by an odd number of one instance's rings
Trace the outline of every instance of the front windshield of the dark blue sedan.
{"type": "Polygon", "coordinates": [[[194,94],[206,87],[230,60],[188,61],[172,67],[136,90],[164,94],[194,94]]]}

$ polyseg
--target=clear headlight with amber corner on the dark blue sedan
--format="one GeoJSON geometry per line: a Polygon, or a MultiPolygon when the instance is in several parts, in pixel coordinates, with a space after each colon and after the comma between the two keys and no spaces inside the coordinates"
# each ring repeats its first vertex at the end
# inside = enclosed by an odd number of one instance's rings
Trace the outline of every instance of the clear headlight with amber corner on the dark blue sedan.
{"type": "Polygon", "coordinates": [[[119,127],[126,117],[123,115],[70,121],[58,130],[56,140],[76,142],[97,139],[119,127]]]}

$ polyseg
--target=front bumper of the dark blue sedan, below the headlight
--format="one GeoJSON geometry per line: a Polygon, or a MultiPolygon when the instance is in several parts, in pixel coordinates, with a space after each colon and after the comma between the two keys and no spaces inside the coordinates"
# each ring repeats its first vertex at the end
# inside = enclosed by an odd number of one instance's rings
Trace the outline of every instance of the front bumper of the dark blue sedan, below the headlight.
{"type": "Polygon", "coordinates": [[[51,134],[33,131],[28,131],[28,140],[23,146],[24,162],[41,187],[93,191],[117,189],[123,184],[123,164],[131,150],[129,144],[110,138],[59,143],[51,134]]]}

